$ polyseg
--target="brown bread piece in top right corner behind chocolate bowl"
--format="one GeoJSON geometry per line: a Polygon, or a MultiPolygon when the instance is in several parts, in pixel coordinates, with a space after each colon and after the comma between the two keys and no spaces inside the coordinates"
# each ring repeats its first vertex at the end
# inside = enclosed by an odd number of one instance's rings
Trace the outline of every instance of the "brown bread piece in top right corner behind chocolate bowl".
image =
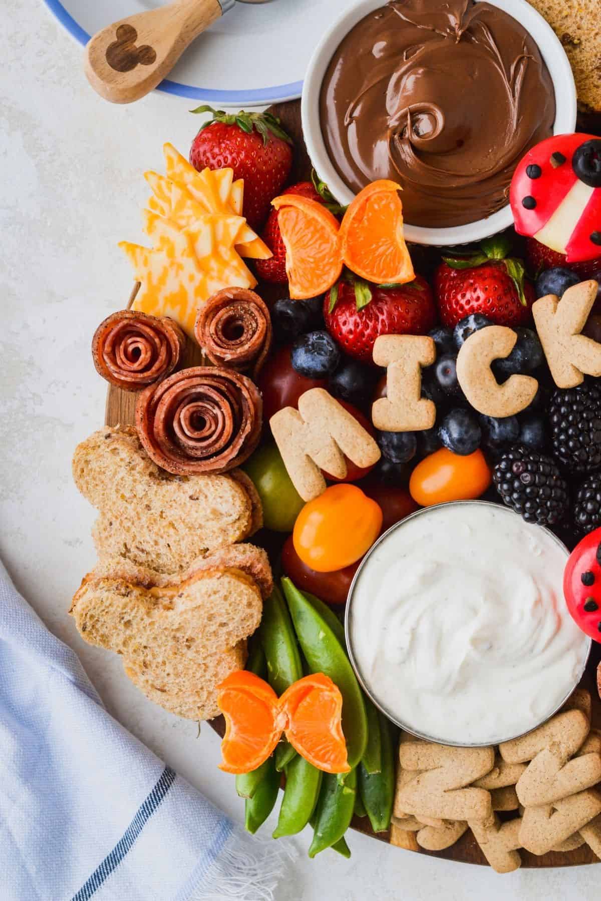
{"type": "Polygon", "coordinates": [[[601,4],[599,0],[529,0],[568,54],[578,106],[601,112],[601,4]]]}

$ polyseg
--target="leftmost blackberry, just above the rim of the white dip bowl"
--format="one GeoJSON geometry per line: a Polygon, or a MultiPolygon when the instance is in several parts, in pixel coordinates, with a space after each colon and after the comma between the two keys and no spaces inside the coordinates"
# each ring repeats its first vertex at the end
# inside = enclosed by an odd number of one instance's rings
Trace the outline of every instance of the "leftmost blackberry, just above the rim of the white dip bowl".
{"type": "Polygon", "coordinates": [[[516,445],[496,464],[493,480],[503,503],[526,523],[553,525],[568,510],[568,485],[546,454],[516,445]]]}

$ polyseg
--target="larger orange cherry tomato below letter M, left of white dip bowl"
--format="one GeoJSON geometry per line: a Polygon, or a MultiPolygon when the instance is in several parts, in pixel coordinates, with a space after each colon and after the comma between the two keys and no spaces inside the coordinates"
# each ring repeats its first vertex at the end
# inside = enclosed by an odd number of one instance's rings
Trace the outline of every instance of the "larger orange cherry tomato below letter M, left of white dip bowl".
{"type": "Polygon", "coordinates": [[[333,572],[351,566],[378,538],[382,511],[356,485],[332,485],[305,504],[292,540],[306,566],[333,572]]]}

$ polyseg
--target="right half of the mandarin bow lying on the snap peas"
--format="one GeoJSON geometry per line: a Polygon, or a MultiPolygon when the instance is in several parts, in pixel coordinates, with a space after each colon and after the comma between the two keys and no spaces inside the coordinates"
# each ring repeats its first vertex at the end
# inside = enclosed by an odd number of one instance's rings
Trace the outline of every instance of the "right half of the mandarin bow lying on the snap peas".
{"type": "Polygon", "coordinates": [[[287,714],[286,737],[295,751],[326,773],[348,773],[342,734],[342,696],[323,673],[298,679],[279,699],[287,714]]]}

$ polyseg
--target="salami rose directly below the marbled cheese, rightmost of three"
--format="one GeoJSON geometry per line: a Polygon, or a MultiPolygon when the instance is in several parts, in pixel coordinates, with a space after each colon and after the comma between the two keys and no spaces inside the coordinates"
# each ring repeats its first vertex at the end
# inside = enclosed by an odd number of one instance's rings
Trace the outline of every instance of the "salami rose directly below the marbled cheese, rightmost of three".
{"type": "Polygon", "coordinates": [[[196,341],[215,366],[259,374],[271,346],[267,306],[254,291],[228,287],[217,291],[196,316],[196,341]]]}

